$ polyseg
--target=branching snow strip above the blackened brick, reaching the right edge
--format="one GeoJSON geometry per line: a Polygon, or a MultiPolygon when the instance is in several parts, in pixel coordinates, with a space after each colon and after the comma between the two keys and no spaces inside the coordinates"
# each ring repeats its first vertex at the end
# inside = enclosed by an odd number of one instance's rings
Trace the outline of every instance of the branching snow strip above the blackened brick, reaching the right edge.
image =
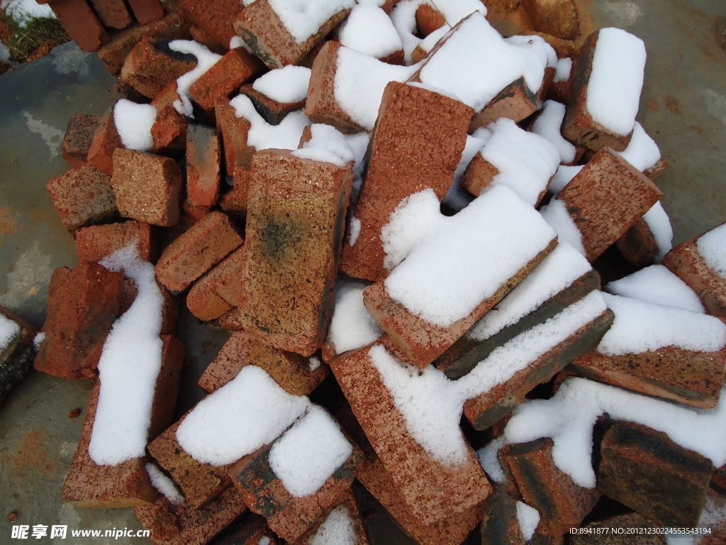
{"type": "Polygon", "coordinates": [[[724,392],[717,408],[704,410],[576,377],[566,379],[549,400],[528,400],[516,408],[505,428],[505,442],[552,437],[557,467],[576,484],[594,488],[592,429],[605,413],[664,432],[683,448],[711,459],[715,467],[726,463],[724,392]]]}

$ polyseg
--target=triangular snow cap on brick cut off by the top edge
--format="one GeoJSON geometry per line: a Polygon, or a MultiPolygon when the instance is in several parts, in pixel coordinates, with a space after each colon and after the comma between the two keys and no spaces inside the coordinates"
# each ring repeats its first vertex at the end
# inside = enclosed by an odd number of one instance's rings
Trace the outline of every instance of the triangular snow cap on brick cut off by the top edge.
{"type": "Polygon", "coordinates": [[[290,36],[302,44],[343,9],[351,9],[355,0],[268,0],[290,36]]]}

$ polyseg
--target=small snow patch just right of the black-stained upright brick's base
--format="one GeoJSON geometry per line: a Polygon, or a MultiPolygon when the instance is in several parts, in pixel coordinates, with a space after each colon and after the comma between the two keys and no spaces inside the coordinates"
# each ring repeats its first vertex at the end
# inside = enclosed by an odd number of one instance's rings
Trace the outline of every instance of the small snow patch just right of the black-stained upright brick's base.
{"type": "Polygon", "coordinates": [[[336,354],[362,348],[383,335],[363,306],[363,290],[368,286],[369,282],[353,278],[341,278],[335,284],[335,304],[328,339],[333,343],[336,354]]]}

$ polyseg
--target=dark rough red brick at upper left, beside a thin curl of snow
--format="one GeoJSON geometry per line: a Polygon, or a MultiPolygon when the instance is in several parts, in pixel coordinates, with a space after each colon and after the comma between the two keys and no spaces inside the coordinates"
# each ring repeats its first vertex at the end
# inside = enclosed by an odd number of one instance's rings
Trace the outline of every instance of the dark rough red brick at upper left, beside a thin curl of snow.
{"type": "Polygon", "coordinates": [[[168,40],[143,39],[123,62],[119,81],[154,98],[169,82],[176,81],[196,65],[197,57],[174,51],[168,40]]]}

